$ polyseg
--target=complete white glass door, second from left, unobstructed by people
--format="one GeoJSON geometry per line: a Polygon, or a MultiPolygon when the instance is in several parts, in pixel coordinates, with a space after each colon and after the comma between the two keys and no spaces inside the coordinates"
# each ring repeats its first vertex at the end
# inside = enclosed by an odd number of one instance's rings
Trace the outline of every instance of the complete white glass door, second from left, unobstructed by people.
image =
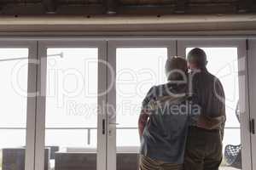
{"type": "Polygon", "coordinates": [[[104,41],[39,41],[35,169],[106,168],[106,47],[104,41]],[[49,147],[59,151],[47,163],[49,147]]]}

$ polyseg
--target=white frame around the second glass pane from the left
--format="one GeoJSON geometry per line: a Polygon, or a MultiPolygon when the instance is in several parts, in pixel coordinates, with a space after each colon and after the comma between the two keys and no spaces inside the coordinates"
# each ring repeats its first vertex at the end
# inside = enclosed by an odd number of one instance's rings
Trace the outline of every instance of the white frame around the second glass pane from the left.
{"type": "MultiPolygon", "coordinates": [[[[61,39],[61,40],[46,40],[38,42],[38,95],[37,100],[37,135],[36,135],[36,150],[35,150],[35,169],[44,170],[44,143],[45,143],[45,94],[46,94],[46,71],[47,71],[47,48],[98,48],[98,59],[107,60],[107,42],[81,39],[61,39]]],[[[105,92],[107,88],[107,67],[106,65],[98,64],[98,93],[105,92]]],[[[103,106],[107,103],[107,95],[98,97],[98,105],[103,106]]],[[[105,111],[99,110],[97,121],[97,170],[106,169],[106,133],[102,134],[102,120],[106,120],[105,111]]],[[[106,128],[106,127],[105,127],[106,128]]]]}

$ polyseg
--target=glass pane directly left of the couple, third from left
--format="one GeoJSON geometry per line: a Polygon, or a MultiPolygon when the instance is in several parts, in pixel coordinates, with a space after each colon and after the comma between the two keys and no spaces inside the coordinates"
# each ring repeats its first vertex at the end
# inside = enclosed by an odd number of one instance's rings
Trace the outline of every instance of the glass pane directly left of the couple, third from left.
{"type": "Polygon", "coordinates": [[[119,123],[116,140],[120,169],[129,165],[137,169],[140,146],[137,122],[142,101],[149,88],[166,82],[166,59],[167,48],[116,49],[116,122],[119,123]]]}

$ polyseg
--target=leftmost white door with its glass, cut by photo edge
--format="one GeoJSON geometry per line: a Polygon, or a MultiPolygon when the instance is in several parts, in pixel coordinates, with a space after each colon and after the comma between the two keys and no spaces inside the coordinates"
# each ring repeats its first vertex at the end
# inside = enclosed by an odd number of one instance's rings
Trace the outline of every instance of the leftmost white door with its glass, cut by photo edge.
{"type": "Polygon", "coordinates": [[[0,169],[34,170],[36,44],[0,41],[0,169]]]}

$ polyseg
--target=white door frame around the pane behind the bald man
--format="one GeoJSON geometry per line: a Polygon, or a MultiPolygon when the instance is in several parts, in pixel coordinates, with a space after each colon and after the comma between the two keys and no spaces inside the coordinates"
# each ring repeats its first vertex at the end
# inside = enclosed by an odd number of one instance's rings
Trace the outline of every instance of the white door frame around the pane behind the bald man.
{"type": "Polygon", "coordinates": [[[238,51],[238,70],[239,70],[239,102],[241,113],[241,156],[242,169],[251,170],[251,141],[249,132],[250,111],[248,103],[248,72],[247,72],[247,42],[246,39],[233,38],[188,38],[177,40],[177,55],[186,56],[186,48],[229,48],[236,47],[238,51]]]}

